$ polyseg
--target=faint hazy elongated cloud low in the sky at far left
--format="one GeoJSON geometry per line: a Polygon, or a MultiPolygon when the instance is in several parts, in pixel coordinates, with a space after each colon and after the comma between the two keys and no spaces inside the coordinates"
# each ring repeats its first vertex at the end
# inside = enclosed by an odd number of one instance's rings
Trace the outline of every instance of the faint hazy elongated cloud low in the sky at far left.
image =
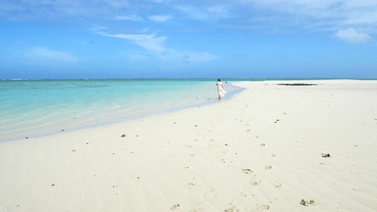
{"type": "Polygon", "coordinates": [[[67,53],[67,52],[60,52],[54,51],[43,47],[34,47],[31,51],[25,53],[25,55],[29,58],[34,59],[50,59],[50,60],[58,60],[67,63],[75,63],[78,61],[78,58],[67,53]]]}

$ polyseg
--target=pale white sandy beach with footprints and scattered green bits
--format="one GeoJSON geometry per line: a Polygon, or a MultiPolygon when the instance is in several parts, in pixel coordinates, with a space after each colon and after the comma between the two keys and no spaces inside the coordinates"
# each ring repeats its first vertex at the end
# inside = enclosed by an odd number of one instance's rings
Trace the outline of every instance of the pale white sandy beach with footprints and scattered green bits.
{"type": "Polygon", "coordinates": [[[234,85],[230,100],[0,143],[0,211],[377,210],[377,81],[234,85]]]}

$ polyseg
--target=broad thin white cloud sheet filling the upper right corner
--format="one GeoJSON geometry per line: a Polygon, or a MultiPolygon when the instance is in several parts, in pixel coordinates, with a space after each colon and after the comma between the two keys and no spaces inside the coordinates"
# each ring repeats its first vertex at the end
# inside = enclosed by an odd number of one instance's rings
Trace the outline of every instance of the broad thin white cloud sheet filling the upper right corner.
{"type": "Polygon", "coordinates": [[[275,17],[273,20],[275,24],[302,26],[312,30],[339,30],[357,26],[371,31],[375,31],[377,25],[377,2],[371,0],[239,0],[239,2],[251,3],[257,11],[263,11],[264,16],[275,17]]]}

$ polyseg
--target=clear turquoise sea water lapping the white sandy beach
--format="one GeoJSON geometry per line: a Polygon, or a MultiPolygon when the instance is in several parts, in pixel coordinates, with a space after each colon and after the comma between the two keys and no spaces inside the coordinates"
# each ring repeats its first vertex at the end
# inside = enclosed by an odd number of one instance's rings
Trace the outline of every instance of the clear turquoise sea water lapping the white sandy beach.
{"type": "MultiPolygon", "coordinates": [[[[231,78],[231,81],[322,78],[231,78]]],[[[334,78],[326,78],[334,79],[334,78]]],[[[360,79],[359,79],[360,80],[360,79]]],[[[376,80],[376,79],[362,79],[376,80]]],[[[54,134],[217,101],[216,79],[0,80],[0,141],[54,134]]],[[[224,83],[224,100],[240,88],[224,83]]]]}

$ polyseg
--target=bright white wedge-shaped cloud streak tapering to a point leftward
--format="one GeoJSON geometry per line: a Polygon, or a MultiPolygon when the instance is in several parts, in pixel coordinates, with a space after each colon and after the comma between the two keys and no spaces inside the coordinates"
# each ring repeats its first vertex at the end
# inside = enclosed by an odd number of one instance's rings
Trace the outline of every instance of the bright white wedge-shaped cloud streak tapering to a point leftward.
{"type": "Polygon", "coordinates": [[[155,35],[127,35],[127,34],[104,34],[100,33],[100,35],[105,35],[109,37],[117,37],[117,38],[124,38],[127,40],[131,40],[132,43],[136,45],[142,46],[144,49],[148,51],[164,51],[164,47],[162,47],[162,43],[164,43],[166,37],[155,37],[155,35]]]}

